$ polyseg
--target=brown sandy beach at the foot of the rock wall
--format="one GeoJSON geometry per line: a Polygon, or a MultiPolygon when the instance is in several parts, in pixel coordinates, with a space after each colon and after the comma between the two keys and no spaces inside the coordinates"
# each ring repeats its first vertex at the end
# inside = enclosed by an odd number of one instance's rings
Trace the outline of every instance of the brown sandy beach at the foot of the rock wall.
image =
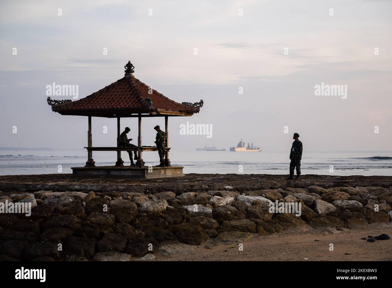
{"type": "Polygon", "coordinates": [[[392,261],[391,241],[370,243],[361,239],[383,233],[392,235],[392,223],[370,225],[361,231],[321,228],[302,234],[254,235],[243,243],[243,251],[238,250],[238,243],[207,244],[192,254],[154,255],[156,261],[392,261]],[[330,243],[334,244],[333,251],[329,250],[330,243]]]}

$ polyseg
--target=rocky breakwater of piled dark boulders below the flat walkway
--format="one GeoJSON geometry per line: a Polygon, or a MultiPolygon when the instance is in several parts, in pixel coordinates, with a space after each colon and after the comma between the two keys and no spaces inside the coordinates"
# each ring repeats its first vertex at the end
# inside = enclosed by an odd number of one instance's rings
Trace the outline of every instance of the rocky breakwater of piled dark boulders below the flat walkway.
{"type": "Polygon", "coordinates": [[[392,187],[281,183],[253,190],[227,183],[210,190],[201,183],[192,192],[181,186],[147,191],[142,185],[139,192],[3,191],[0,202],[32,203],[32,209],[30,216],[0,213],[0,260],[148,260],[156,252],[192,253],[206,241],[234,244],[285,231],[362,229],[391,221],[392,187]],[[301,203],[301,214],[271,213],[270,203],[301,203]]]}

